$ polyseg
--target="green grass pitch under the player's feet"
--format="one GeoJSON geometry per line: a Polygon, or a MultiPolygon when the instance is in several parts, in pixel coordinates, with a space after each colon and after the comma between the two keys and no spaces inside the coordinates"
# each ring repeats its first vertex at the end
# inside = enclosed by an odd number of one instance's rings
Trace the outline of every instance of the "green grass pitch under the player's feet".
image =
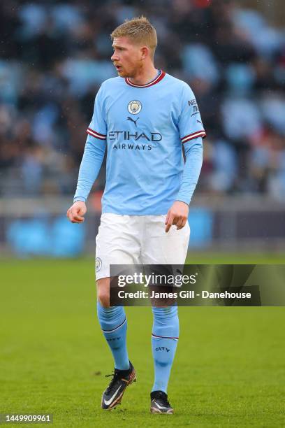
{"type": "MultiPolygon", "coordinates": [[[[190,261],[284,257],[192,254],[190,261]]],[[[138,381],[121,406],[104,412],[112,359],[96,319],[93,260],[10,259],[0,266],[0,413],[52,413],[52,427],[68,428],[285,427],[285,308],[180,308],[168,389],[174,415],[149,414],[152,313],[126,308],[138,381]]]]}

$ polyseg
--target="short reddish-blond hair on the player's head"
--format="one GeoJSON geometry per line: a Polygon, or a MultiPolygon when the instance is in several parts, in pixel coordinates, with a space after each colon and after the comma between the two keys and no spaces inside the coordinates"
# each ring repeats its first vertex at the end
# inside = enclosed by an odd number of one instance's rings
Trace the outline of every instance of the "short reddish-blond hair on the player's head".
{"type": "Polygon", "coordinates": [[[154,57],[154,51],[157,46],[156,30],[147,17],[143,15],[133,17],[131,20],[125,20],[123,24],[112,31],[110,36],[112,40],[115,37],[129,37],[134,43],[142,43],[150,48],[152,58],[154,57]]]}

